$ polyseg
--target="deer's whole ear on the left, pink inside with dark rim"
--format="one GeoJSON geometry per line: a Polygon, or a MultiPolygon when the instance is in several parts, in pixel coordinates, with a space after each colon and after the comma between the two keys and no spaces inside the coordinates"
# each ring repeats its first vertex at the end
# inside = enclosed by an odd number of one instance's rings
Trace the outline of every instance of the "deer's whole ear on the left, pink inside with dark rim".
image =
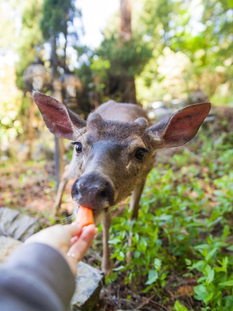
{"type": "Polygon", "coordinates": [[[78,129],[86,125],[84,119],[51,96],[33,92],[32,98],[51,133],[69,140],[76,140],[79,133],[78,129]]]}

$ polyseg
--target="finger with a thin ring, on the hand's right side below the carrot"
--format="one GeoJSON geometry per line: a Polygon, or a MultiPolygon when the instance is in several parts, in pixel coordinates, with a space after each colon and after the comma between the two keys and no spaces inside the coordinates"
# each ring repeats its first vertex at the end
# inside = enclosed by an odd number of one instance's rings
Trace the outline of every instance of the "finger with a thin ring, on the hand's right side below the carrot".
{"type": "Polygon", "coordinates": [[[68,251],[68,254],[73,254],[75,257],[69,257],[75,259],[76,262],[81,260],[87,252],[87,249],[92,244],[97,231],[98,229],[95,227],[95,225],[89,225],[85,227],[77,242],[75,242],[68,251]]]}

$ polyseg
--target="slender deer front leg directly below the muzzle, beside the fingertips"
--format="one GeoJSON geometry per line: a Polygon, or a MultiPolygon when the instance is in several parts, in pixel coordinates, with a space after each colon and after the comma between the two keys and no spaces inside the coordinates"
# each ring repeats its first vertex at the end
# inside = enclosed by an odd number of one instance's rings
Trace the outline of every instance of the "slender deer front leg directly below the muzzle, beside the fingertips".
{"type": "Polygon", "coordinates": [[[103,227],[103,256],[101,263],[101,270],[105,275],[111,273],[113,268],[112,260],[110,259],[110,249],[109,249],[109,229],[111,226],[111,216],[110,214],[105,214],[102,220],[103,227]]]}

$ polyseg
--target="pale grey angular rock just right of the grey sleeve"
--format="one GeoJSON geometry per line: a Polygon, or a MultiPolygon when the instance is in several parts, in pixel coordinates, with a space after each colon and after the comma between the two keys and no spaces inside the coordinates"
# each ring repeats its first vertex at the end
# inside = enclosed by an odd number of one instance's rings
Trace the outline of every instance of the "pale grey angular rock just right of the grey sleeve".
{"type": "Polygon", "coordinates": [[[71,300],[71,311],[90,311],[99,300],[99,293],[103,283],[103,273],[79,262],[77,265],[78,275],[76,277],[76,290],[71,300]]]}

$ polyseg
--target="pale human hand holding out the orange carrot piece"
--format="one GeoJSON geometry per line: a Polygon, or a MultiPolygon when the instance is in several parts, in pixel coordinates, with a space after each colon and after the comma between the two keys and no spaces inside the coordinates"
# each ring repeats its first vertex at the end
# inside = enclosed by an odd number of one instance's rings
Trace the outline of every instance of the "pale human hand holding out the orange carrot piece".
{"type": "Polygon", "coordinates": [[[57,249],[76,275],[77,262],[86,254],[97,231],[93,224],[84,228],[75,222],[67,225],[57,224],[33,234],[25,243],[43,243],[57,249]]]}

